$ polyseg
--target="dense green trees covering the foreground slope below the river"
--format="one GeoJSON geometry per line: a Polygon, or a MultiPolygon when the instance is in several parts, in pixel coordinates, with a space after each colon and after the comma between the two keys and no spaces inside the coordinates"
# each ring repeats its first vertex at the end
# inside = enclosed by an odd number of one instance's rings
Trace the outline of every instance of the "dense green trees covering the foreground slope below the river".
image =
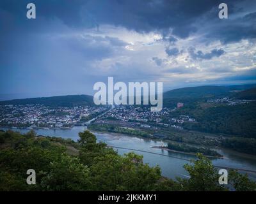
{"type": "MultiPolygon", "coordinates": [[[[0,191],[228,191],[218,184],[218,171],[198,154],[185,164],[189,179],[161,176],[158,166],[143,163],[133,152],[120,156],[97,143],[89,131],[78,142],[56,137],[0,131],[0,191]],[[26,171],[36,171],[36,185],[26,184],[26,171]]],[[[229,171],[228,183],[237,191],[255,191],[247,175],[229,171]]]]}

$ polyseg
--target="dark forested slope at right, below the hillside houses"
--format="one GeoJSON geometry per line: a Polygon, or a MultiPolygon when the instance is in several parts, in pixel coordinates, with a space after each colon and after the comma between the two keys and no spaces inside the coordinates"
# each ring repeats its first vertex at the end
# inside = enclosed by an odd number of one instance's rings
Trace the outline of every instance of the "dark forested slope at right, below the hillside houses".
{"type": "Polygon", "coordinates": [[[256,137],[256,103],[236,106],[214,106],[195,109],[184,108],[184,113],[195,117],[196,123],[187,123],[184,128],[207,133],[223,133],[247,138],[256,137]]]}

